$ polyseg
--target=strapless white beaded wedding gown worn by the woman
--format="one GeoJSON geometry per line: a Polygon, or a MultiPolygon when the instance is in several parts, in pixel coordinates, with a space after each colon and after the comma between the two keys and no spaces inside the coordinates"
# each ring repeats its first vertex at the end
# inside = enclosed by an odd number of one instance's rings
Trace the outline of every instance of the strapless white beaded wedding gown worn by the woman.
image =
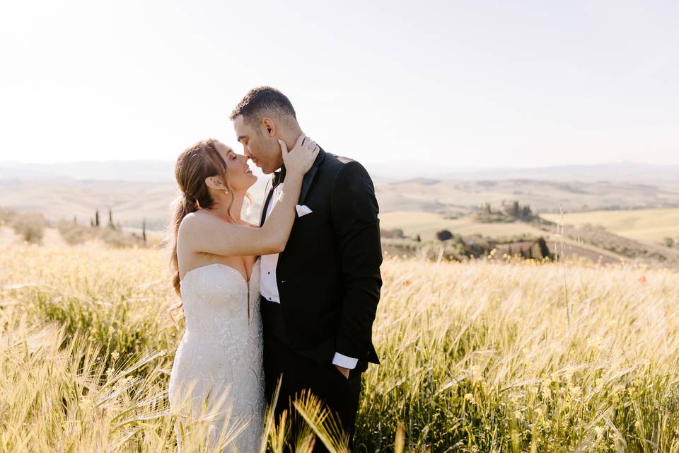
{"type": "MultiPolygon", "coordinates": [[[[180,287],[186,331],[170,374],[170,408],[181,410],[186,423],[204,413],[207,402],[219,413],[209,424],[210,451],[217,451],[220,436],[231,437],[245,426],[223,451],[258,452],[266,406],[260,260],[249,285],[235,268],[213,263],[188,271],[180,287]],[[180,409],[182,398],[190,403],[180,409]]],[[[180,445],[179,430],[177,435],[180,445]]]]}

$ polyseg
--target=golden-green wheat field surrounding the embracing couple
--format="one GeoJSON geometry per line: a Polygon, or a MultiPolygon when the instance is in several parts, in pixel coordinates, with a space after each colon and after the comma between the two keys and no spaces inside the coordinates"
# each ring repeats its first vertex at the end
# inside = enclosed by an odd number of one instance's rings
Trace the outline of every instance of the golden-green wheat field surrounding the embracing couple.
{"type": "MultiPolygon", "coordinates": [[[[166,258],[0,249],[1,452],[176,451],[166,258]]],[[[679,452],[678,273],[508,261],[385,259],[354,451],[679,452]]]]}

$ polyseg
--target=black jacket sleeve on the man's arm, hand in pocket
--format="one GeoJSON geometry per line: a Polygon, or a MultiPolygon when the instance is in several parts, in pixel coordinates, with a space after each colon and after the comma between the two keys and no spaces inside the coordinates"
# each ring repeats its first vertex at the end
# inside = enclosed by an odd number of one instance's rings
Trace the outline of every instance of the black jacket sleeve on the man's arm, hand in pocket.
{"type": "Polygon", "coordinates": [[[344,299],[337,351],[365,359],[380,299],[382,246],[373,182],[356,161],[342,166],[330,196],[330,215],[342,260],[344,299]]]}

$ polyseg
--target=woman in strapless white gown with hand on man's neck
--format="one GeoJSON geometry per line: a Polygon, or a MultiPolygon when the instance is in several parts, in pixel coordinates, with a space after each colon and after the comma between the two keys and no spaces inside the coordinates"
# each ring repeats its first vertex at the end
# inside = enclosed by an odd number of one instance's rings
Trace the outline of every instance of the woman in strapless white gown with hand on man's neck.
{"type": "Polygon", "coordinates": [[[240,218],[255,181],[248,159],[207,140],[180,154],[170,268],[186,331],[170,373],[177,443],[208,413],[209,451],[258,452],[265,416],[260,321],[260,255],[283,250],[295,218],[302,178],[319,148],[301,134],[291,151],[280,142],[284,192],[258,228],[240,218]]]}

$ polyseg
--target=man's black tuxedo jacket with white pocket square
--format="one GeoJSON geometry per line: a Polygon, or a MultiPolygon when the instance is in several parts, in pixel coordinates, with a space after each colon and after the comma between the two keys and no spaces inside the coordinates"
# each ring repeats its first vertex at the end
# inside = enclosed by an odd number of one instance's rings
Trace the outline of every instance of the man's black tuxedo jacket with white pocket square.
{"type": "MultiPolygon", "coordinates": [[[[269,189],[260,226],[272,197],[269,189]]],[[[319,364],[335,352],[379,363],[372,326],[380,299],[382,247],[373,182],[356,161],[320,150],[304,176],[276,279],[284,324],[296,352],[319,364]]],[[[265,302],[262,302],[265,303],[265,302]]]]}

